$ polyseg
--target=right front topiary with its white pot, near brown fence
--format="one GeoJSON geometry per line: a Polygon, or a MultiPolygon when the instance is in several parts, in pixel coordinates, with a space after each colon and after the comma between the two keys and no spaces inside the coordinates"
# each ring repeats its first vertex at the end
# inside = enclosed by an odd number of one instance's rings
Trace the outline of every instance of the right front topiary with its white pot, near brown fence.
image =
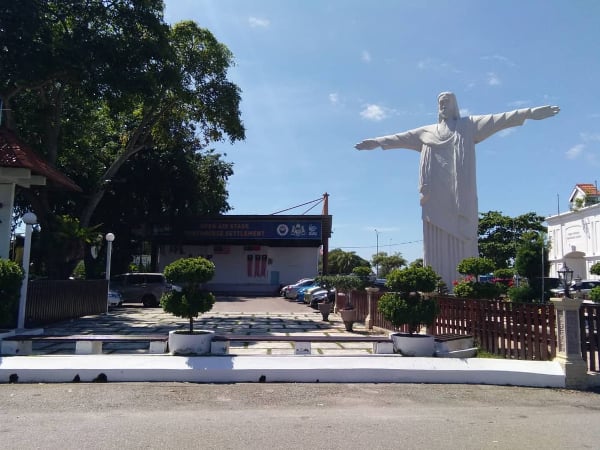
{"type": "Polygon", "coordinates": [[[436,299],[429,295],[438,283],[431,267],[395,269],[387,276],[390,290],[379,299],[378,310],[395,328],[407,326],[408,332],[391,334],[394,351],[404,356],[432,356],[435,340],[420,334],[423,326],[432,326],[438,313],[436,299]]]}

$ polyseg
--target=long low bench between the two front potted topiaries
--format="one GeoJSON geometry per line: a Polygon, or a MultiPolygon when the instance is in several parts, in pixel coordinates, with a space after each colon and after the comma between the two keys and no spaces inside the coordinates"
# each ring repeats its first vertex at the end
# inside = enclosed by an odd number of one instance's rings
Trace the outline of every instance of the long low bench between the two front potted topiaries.
{"type": "Polygon", "coordinates": [[[226,355],[229,353],[231,342],[293,342],[296,355],[310,355],[312,342],[370,342],[373,344],[373,353],[394,353],[392,340],[389,336],[329,336],[329,335],[239,335],[239,334],[216,334],[213,336],[210,352],[213,355],[226,355]]]}

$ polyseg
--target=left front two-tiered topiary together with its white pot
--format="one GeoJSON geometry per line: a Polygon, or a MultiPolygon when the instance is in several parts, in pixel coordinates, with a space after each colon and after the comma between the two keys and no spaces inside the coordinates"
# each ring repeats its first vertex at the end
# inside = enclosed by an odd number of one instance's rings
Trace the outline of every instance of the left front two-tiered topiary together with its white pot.
{"type": "Polygon", "coordinates": [[[181,258],[165,267],[165,277],[173,289],[162,295],[160,304],[165,312],[189,319],[187,330],[169,332],[169,351],[172,354],[205,354],[210,352],[214,332],[194,330],[194,318],[208,312],[215,297],[204,288],[215,274],[215,265],[201,257],[181,258]]]}

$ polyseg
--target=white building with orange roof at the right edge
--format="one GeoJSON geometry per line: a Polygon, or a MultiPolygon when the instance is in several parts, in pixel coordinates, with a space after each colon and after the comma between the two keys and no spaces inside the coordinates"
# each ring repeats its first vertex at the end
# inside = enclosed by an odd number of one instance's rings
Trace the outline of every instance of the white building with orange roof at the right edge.
{"type": "Polygon", "coordinates": [[[590,267],[600,262],[600,191],[595,184],[577,184],[569,197],[569,211],[546,217],[550,276],[558,277],[564,264],[573,277],[598,279],[590,267]]]}

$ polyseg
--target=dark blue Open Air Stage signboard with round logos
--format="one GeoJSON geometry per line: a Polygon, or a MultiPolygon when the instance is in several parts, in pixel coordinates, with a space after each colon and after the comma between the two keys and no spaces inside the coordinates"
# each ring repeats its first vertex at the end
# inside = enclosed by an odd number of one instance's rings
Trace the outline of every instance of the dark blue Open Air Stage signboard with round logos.
{"type": "Polygon", "coordinates": [[[286,239],[320,240],[320,221],[207,221],[197,225],[195,230],[186,231],[186,237],[199,239],[286,239]]]}

